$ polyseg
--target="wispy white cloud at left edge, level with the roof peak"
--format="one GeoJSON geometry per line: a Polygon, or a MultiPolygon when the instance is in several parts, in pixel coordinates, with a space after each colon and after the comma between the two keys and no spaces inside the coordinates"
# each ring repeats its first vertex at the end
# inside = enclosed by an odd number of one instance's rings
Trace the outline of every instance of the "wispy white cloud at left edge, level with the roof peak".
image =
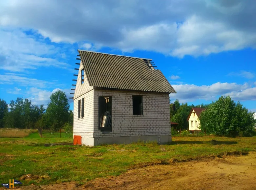
{"type": "Polygon", "coordinates": [[[0,28],[0,69],[12,72],[49,66],[67,69],[67,63],[54,58],[57,50],[21,29],[0,28]]]}

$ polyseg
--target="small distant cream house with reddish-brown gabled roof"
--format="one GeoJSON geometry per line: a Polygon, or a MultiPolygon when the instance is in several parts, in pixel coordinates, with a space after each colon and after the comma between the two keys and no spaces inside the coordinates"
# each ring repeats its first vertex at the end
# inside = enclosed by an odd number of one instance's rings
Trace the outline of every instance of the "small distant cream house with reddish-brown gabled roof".
{"type": "Polygon", "coordinates": [[[199,129],[199,126],[200,126],[199,116],[203,110],[205,110],[205,108],[198,108],[198,107],[191,108],[188,118],[187,118],[189,131],[200,130],[199,129]]]}

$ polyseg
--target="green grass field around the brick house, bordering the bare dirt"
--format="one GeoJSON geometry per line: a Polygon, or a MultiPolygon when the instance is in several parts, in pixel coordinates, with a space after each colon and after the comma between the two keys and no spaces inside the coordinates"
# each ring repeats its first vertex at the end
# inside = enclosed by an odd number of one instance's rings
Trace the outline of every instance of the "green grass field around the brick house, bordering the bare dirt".
{"type": "Polygon", "coordinates": [[[85,183],[151,164],[256,150],[256,137],[173,137],[173,142],[166,145],[140,142],[96,147],[44,147],[44,143],[71,143],[72,136],[44,134],[43,137],[32,133],[25,138],[0,138],[0,183],[9,179],[25,185],[85,183]]]}

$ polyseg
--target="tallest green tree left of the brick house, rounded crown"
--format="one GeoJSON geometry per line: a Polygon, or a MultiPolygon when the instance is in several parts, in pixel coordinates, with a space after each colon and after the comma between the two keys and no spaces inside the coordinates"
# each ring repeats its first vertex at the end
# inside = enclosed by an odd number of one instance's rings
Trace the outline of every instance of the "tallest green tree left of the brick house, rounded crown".
{"type": "Polygon", "coordinates": [[[50,103],[46,109],[47,124],[53,131],[59,130],[69,121],[69,102],[66,94],[57,90],[50,96],[50,103]]]}

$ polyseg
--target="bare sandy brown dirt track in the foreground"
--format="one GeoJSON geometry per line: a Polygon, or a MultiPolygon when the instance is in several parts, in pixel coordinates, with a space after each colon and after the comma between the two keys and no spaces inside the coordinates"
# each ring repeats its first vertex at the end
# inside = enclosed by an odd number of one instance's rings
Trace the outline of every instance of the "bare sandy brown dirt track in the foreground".
{"type": "Polygon", "coordinates": [[[34,189],[182,189],[235,190],[256,189],[256,152],[246,156],[204,159],[154,165],[109,178],[99,178],[78,186],[75,182],[19,188],[34,189]]]}

